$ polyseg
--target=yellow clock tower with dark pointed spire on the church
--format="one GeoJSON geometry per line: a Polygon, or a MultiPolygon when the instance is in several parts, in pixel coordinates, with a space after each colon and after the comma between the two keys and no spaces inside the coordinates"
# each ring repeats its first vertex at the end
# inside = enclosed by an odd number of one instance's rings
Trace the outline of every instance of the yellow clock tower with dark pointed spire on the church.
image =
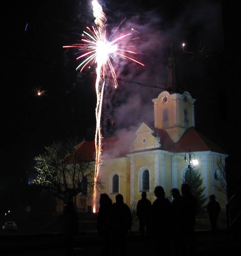
{"type": "Polygon", "coordinates": [[[175,58],[172,53],[168,58],[167,90],[161,92],[154,103],[154,127],[168,132],[174,142],[177,142],[185,130],[195,126],[194,102],[191,94],[187,91],[177,93],[175,73],[175,58]]]}

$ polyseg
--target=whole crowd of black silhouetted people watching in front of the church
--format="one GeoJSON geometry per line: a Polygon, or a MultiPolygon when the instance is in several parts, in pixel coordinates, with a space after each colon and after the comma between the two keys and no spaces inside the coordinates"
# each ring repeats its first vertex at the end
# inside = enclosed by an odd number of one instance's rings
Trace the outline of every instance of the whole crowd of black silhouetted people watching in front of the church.
{"type": "MultiPolygon", "coordinates": [[[[171,190],[171,203],[165,197],[164,189],[157,186],[154,189],[156,199],[153,204],[147,199],[145,191],[141,193],[141,199],[137,203],[141,241],[148,242],[152,237],[158,255],[195,255],[194,226],[198,204],[188,183],[181,185],[181,192],[182,195],[177,188],[171,190]]],[[[212,230],[215,231],[220,206],[214,195],[209,196],[209,199],[207,211],[212,230]]],[[[112,203],[107,194],[101,194],[97,215],[97,231],[102,237],[101,255],[126,255],[126,235],[131,226],[132,214],[124,203],[123,196],[117,194],[116,203],[112,203]]],[[[78,221],[73,203],[68,202],[64,211],[66,255],[72,255],[77,230],[78,221]]]]}

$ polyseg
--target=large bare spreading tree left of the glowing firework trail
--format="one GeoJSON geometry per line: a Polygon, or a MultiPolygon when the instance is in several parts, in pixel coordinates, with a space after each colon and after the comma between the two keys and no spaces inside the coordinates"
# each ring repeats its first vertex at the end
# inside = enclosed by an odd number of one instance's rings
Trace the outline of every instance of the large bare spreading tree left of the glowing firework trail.
{"type": "MultiPolygon", "coordinates": [[[[94,191],[93,159],[85,140],[80,142],[77,137],[58,140],[45,147],[43,155],[35,157],[33,182],[61,200],[72,201],[79,193],[87,196],[94,191]]],[[[100,179],[96,181],[96,188],[103,188],[100,179]]]]}

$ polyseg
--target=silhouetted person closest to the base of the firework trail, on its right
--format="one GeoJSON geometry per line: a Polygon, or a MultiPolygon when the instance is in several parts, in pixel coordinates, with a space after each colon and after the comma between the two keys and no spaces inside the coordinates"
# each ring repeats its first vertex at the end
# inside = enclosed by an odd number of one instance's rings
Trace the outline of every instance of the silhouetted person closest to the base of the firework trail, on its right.
{"type": "Polygon", "coordinates": [[[98,235],[102,236],[102,253],[103,256],[110,255],[110,227],[109,217],[112,207],[112,201],[107,194],[100,196],[100,208],[97,215],[97,231],[98,235]]]}

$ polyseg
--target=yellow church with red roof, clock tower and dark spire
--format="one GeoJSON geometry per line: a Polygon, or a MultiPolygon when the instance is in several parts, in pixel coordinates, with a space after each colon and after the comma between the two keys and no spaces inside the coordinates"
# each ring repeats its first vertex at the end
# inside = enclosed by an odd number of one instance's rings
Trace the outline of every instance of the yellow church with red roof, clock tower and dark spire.
{"type": "MultiPolygon", "coordinates": [[[[171,189],[180,190],[185,173],[189,172],[189,160],[194,164],[203,179],[203,194],[207,197],[215,194],[222,208],[226,197],[215,189],[218,185],[215,172],[218,172],[217,159],[225,161],[225,151],[215,145],[195,129],[195,99],[184,91],[177,93],[175,59],[173,53],[168,58],[167,89],[150,99],[154,107],[154,127],[144,122],[135,134],[103,139],[102,165],[99,177],[104,188],[97,193],[96,203],[101,193],[106,193],[115,202],[120,193],[129,207],[141,198],[141,192],[147,192],[147,198],[155,200],[154,188],[162,186],[171,200],[171,189]],[[190,153],[191,159],[190,159],[190,153]],[[186,158],[187,161],[184,161],[186,158]]],[[[94,161],[94,141],[84,142],[94,161]]],[[[93,202],[91,198],[77,196],[77,210],[87,211],[93,202]]]]}

